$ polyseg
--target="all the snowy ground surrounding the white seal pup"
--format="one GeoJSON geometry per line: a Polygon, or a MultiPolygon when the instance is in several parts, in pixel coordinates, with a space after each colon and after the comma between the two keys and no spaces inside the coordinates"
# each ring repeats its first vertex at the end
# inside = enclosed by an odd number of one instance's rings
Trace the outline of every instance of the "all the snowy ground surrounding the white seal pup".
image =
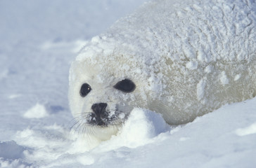
{"type": "Polygon", "coordinates": [[[255,167],[256,98],[179,127],[134,109],[91,151],[70,132],[70,62],[141,3],[0,1],[0,167],[255,167]]]}

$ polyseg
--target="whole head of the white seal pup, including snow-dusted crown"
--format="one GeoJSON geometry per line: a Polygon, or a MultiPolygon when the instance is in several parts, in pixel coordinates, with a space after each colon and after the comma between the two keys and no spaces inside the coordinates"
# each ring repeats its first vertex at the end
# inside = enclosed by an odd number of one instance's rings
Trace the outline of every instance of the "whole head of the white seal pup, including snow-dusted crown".
{"type": "Polygon", "coordinates": [[[98,52],[95,46],[72,62],[69,100],[77,129],[102,141],[117,133],[134,106],[146,106],[146,81],[137,60],[120,51],[98,52]]]}

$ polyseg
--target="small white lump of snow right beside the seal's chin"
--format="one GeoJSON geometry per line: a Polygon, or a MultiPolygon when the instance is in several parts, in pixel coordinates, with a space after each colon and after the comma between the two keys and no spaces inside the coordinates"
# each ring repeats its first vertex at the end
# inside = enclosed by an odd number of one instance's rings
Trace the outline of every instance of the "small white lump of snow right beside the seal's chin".
{"type": "Polygon", "coordinates": [[[118,144],[120,147],[136,148],[148,144],[154,137],[168,130],[169,126],[159,113],[134,109],[129,120],[124,124],[117,137],[113,137],[111,143],[118,144]]]}

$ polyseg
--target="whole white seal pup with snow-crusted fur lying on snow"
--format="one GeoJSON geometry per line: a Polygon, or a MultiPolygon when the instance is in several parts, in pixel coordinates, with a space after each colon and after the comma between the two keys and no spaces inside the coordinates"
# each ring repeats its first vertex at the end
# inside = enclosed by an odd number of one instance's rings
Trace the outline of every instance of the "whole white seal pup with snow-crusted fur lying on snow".
{"type": "Polygon", "coordinates": [[[143,4],[89,41],[70,68],[77,129],[110,139],[134,107],[169,125],[256,94],[253,0],[143,4]]]}

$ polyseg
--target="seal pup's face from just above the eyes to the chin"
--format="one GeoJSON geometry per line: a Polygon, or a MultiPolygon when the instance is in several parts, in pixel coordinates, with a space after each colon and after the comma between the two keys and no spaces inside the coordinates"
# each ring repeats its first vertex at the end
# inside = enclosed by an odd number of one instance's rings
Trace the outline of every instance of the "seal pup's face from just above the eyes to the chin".
{"type": "Polygon", "coordinates": [[[70,108],[77,127],[101,140],[116,134],[140,95],[131,76],[110,71],[77,61],[70,69],[70,108]]]}

